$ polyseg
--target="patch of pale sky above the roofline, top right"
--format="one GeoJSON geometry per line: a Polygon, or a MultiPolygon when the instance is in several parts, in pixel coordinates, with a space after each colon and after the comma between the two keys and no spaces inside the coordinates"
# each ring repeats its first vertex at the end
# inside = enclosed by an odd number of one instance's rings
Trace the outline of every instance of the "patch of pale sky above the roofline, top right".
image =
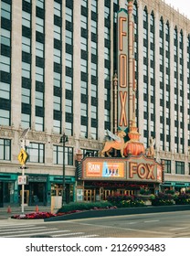
{"type": "Polygon", "coordinates": [[[179,13],[190,19],[190,1],[189,0],[163,0],[165,4],[174,6],[179,13]]]}

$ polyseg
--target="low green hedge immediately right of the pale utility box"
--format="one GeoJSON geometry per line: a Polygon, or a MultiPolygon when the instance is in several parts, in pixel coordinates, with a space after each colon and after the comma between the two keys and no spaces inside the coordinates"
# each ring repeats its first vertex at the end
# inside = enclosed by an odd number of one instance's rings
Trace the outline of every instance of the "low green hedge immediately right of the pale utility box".
{"type": "Polygon", "coordinates": [[[90,210],[90,209],[97,209],[97,208],[111,208],[112,205],[110,202],[72,202],[68,205],[64,205],[62,208],[58,209],[58,213],[61,212],[69,212],[75,210],[90,210]]]}

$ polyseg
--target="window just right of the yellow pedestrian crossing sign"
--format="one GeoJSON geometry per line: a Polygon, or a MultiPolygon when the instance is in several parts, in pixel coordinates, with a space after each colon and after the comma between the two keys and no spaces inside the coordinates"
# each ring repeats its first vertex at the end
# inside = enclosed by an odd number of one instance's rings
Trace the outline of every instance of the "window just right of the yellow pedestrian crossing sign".
{"type": "Polygon", "coordinates": [[[45,145],[30,143],[29,147],[26,148],[28,153],[28,162],[33,163],[44,163],[45,159],[45,145]]]}

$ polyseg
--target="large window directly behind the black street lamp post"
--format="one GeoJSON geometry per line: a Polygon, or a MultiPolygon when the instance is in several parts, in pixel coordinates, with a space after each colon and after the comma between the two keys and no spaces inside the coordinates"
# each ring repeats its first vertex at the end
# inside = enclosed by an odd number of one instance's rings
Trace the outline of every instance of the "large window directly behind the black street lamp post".
{"type": "MultiPolygon", "coordinates": [[[[54,165],[63,165],[63,146],[53,146],[54,165]]],[[[73,165],[73,148],[65,147],[65,165],[73,165]]]]}

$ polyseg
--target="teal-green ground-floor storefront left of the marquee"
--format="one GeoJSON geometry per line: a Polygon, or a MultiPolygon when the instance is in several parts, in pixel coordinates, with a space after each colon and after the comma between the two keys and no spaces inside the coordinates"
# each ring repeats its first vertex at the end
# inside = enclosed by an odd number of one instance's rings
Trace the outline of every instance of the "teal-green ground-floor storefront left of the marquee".
{"type": "MultiPolygon", "coordinates": [[[[22,202],[22,185],[18,185],[19,174],[1,174],[0,207],[20,205],[22,202]]],[[[26,175],[24,186],[24,204],[26,206],[50,206],[52,197],[62,197],[62,176],[26,175]]],[[[65,177],[65,194],[67,203],[75,201],[75,177],[65,177]]]]}

